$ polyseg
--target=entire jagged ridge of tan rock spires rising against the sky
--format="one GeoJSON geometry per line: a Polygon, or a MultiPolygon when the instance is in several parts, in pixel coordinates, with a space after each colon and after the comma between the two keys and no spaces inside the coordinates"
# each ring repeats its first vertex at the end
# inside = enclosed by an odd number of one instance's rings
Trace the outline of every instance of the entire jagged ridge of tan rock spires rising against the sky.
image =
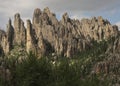
{"type": "Polygon", "coordinates": [[[7,32],[0,30],[0,53],[8,54],[19,45],[40,57],[49,53],[72,57],[92,47],[92,41],[107,40],[119,32],[116,25],[101,16],[80,21],[65,13],[58,21],[49,8],[35,9],[32,22],[26,22],[25,27],[19,13],[14,16],[14,25],[9,19],[7,32]]]}

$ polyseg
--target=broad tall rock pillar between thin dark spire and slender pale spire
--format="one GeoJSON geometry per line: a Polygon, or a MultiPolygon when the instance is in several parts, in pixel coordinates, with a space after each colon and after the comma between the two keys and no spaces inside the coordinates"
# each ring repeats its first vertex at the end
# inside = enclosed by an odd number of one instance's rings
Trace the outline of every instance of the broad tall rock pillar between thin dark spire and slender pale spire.
{"type": "Polygon", "coordinates": [[[25,46],[26,43],[26,29],[24,22],[20,18],[20,14],[16,13],[14,16],[14,43],[25,46]]]}

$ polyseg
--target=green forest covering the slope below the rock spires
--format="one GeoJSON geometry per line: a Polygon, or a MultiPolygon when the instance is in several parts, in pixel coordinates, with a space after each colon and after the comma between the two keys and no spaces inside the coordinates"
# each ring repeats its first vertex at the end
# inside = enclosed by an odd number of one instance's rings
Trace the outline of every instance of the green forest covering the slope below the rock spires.
{"type": "MultiPolygon", "coordinates": [[[[94,42],[92,49],[72,59],[60,58],[54,62],[47,57],[37,58],[32,52],[23,59],[12,56],[6,59],[6,67],[11,72],[9,83],[11,86],[108,86],[107,80],[90,76],[92,66],[104,58],[99,55],[106,49],[106,41],[94,42]]],[[[0,83],[0,86],[9,85],[0,83]]]]}

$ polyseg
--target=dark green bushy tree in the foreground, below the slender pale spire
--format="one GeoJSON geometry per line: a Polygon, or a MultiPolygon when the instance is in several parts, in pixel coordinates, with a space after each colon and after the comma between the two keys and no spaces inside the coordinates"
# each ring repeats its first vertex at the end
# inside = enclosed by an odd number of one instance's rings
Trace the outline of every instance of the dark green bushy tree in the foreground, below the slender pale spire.
{"type": "Polygon", "coordinates": [[[30,53],[15,68],[15,86],[46,86],[51,81],[51,64],[30,53]]]}

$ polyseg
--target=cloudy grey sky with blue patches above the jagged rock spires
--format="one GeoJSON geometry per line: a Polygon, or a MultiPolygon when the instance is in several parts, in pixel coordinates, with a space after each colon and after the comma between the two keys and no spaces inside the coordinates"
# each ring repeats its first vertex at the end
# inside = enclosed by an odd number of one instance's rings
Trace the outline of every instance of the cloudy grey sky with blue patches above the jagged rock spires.
{"type": "Polygon", "coordinates": [[[102,16],[111,24],[120,27],[120,0],[0,0],[0,28],[6,29],[8,19],[13,21],[14,14],[20,13],[26,22],[32,19],[35,8],[43,10],[45,7],[61,19],[67,12],[71,18],[91,18],[102,16]]]}

